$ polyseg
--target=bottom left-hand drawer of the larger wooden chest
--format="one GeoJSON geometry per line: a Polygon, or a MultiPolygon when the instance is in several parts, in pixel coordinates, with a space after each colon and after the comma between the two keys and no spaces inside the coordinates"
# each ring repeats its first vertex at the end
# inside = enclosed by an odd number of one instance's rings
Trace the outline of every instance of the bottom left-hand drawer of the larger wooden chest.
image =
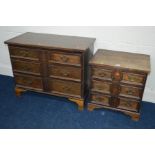
{"type": "Polygon", "coordinates": [[[28,87],[31,89],[43,89],[42,79],[40,77],[15,74],[17,85],[28,87]]]}

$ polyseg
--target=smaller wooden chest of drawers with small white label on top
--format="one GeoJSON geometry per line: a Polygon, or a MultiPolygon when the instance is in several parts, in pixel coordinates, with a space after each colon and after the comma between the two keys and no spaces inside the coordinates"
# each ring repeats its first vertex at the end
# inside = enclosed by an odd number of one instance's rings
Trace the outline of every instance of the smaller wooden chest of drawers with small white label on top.
{"type": "Polygon", "coordinates": [[[90,72],[88,110],[108,108],[139,120],[149,55],[100,49],[90,60],[90,72]]]}

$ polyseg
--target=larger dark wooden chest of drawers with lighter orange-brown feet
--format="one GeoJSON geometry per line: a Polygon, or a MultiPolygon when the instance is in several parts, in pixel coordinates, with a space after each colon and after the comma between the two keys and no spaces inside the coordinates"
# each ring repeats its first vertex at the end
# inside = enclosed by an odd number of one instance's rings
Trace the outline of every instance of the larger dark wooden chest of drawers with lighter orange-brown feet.
{"type": "Polygon", "coordinates": [[[6,41],[17,95],[26,90],[63,96],[83,109],[94,38],[25,33],[6,41]]]}

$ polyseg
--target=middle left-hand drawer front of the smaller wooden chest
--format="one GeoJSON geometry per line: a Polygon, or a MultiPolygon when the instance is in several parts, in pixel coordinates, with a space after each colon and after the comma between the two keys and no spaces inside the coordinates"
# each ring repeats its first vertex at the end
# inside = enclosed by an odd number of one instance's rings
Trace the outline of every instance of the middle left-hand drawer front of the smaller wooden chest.
{"type": "Polygon", "coordinates": [[[93,91],[110,93],[110,87],[111,87],[111,84],[108,82],[97,81],[97,80],[92,81],[92,90],[93,91]]]}

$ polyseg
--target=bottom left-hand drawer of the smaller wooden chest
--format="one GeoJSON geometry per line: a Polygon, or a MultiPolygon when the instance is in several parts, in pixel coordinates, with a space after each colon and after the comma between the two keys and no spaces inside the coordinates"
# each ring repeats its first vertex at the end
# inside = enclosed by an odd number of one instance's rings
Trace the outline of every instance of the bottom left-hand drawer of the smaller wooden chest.
{"type": "Polygon", "coordinates": [[[110,96],[103,94],[91,94],[90,99],[94,103],[102,104],[105,106],[109,106],[110,96]]]}

